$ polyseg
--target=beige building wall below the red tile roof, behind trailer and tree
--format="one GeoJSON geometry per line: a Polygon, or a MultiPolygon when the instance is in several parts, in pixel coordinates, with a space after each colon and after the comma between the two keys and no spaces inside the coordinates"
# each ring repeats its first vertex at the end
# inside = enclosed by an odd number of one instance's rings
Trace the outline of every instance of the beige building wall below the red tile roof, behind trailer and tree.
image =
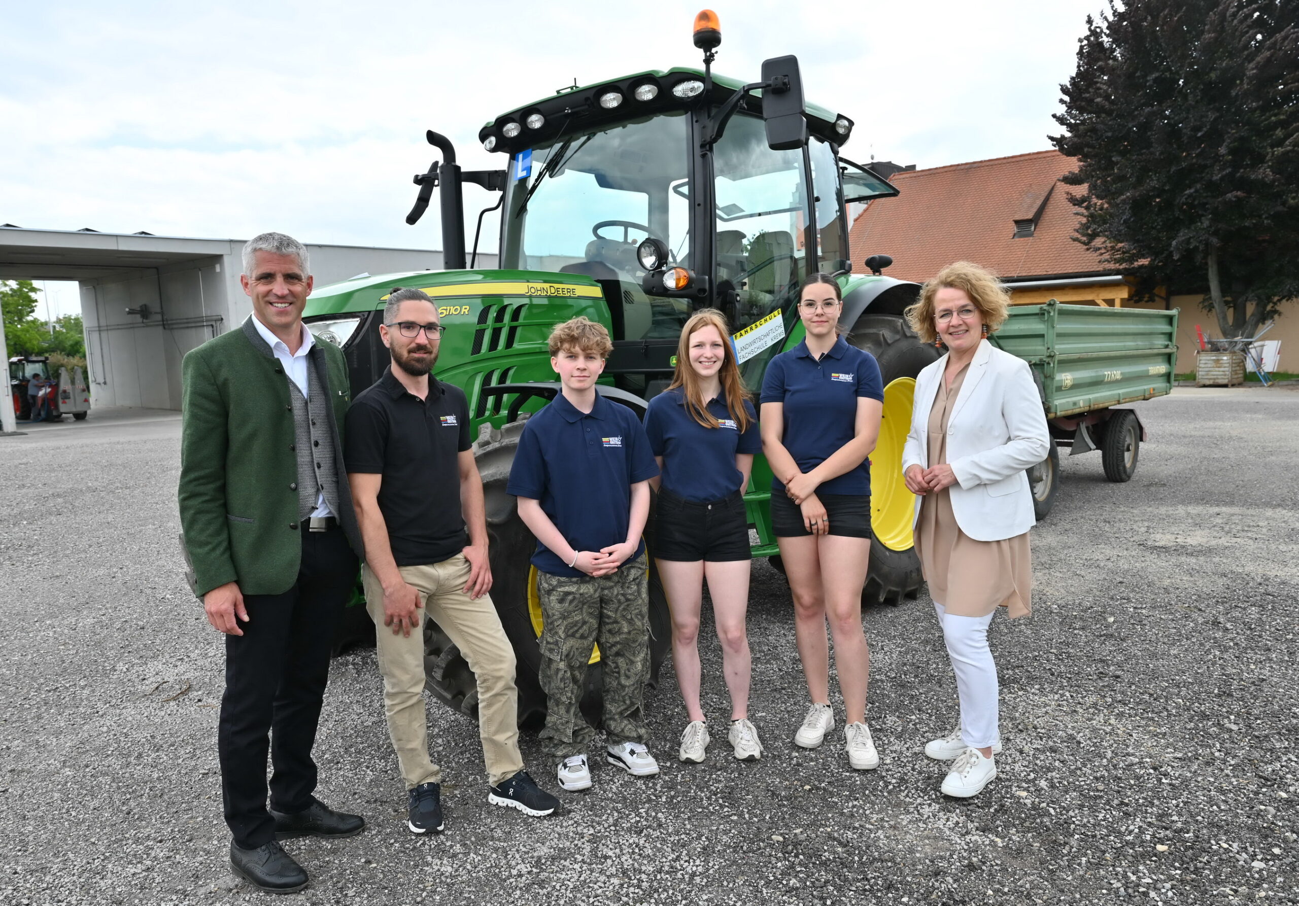
{"type": "MultiPolygon", "coordinates": [[[[1124,283],[1013,289],[1011,302],[1013,305],[1040,305],[1056,299],[1070,305],[1165,308],[1163,302],[1131,302],[1129,292],[1130,288],[1124,283]]],[[[1199,341],[1195,339],[1195,324],[1200,326],[1205,337],[1221,336],[1217,318],[1213,317],[1212,312],[1200,308],[1199,295],[1173,296],[1167,308],[1181,310],[1177,318],[1177,373],[1189,374],[1195,371],[1195,352],[1199,349],[1199,341]]],[[[1277,323],[1272,326],[1264,339],[1281,340],[1280,371],[1299,373],[1299,300],[1282,306],[1277,323]]]]}

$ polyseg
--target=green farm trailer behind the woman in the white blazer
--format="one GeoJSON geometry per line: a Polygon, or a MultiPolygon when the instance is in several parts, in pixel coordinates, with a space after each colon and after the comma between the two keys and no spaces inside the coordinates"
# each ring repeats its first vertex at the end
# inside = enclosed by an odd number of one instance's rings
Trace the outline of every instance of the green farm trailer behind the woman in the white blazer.
{"type": "Polygon", "coordinates": [[[1060,474],[1057,447],[1069,456],[1100,450],[1105,478],[1126,482],[1137,470],[1146,430],[1131,409],[1165,396],[1177,362],[1177,312],[1044,305],[1011,309],[992,344],[1033,369],[1051,428],[1051,454],[1029,470],[1038,519],[1051,511],[1060,474]]]}

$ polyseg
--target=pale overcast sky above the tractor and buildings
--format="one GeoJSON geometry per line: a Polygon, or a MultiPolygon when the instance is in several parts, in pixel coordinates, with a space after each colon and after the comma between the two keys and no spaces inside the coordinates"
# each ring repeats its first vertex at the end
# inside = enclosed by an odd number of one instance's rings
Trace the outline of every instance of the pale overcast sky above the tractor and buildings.
{"type": "MultiPolygon", "coordinates": [[[[713,4],[716,70],[794,53],[844,154],[921,169],[1042,151],[1100,0],[713,4]]],[[[55,0],[0,14],[0,223],[439,248],[404,222],[449,136],[556,88],[699,65],[696,3],[220,4],[55,0]]],[[[466,187],[470,221],[494,202],[466,187]]],[[[433,209],[435,212],[435,208],[433,209]]],[[[470,240],[472,240],[470,227],[470,240]]],[[[491,240],[495,245],[494,239],[491,240]]],[[[51,289],[56,289],[51,284],[51,289]]],[[[52,292],[55,315],[75,292],[52,292]]]]}

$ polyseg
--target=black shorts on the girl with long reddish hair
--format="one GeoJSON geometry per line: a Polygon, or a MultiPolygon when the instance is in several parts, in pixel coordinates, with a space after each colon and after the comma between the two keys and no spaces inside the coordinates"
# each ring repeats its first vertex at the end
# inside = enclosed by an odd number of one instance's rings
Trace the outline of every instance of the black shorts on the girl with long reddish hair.
{"type": "Polygon", "coordinates": [[[650,553],[686,563],[751,559],[744,497],[737,491],[700,504],[660,489],[650,553]]]}

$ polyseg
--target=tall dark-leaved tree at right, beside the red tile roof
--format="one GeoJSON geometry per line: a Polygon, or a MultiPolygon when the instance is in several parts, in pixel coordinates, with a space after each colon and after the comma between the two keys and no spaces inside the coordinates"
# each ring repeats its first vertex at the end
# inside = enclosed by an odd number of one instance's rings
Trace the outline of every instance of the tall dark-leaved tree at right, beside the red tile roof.
{"type": "Polygon", "coordinates": [[[1224,336],[1299,296],[1299,0],[1111,0],[1060,88],[1078,241],[1224,336]]]}

